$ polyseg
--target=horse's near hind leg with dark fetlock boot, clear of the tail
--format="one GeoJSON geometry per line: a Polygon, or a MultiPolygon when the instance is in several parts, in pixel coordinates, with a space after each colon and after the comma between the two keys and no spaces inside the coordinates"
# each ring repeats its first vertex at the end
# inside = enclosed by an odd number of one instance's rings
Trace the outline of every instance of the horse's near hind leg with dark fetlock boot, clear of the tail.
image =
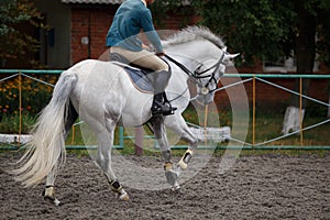
{"type": "Polygon", "coordinates": [[[101,131],[98,135],[99,147],[97,155],[97,164],[107,176],[112,191],[118,194],[119,199],[128,201],[130,197],[128,193],[123,189],[121,184],[118,182],[111,168],[111,146],[113,145],[116,122],[106,119],[106,128],[107,129],[103,129],[103,131],[101,131]]]}

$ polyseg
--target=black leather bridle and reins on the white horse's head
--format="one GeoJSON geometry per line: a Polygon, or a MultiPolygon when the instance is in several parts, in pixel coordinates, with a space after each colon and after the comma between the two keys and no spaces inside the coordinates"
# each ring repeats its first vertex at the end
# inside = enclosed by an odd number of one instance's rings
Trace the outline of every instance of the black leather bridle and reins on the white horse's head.
{"type": "MultiPolygon", "coordinates": [[[[222,51],[222,50],[221,50],[222,51]]],[[[164,56],[172,63],[174,63],[175,65],[177,65],[180,69],[183,69],[189,77],[195,79],[195,84],[200,88],[201,95],[208,95],[210,92],[213,92],[215,90],[218,89],[218,80],[219,78],[217,78],[217,72],[220,67],[220,65],[224,65],[224,55],[227,52],[222,51],[222,55],[219,58],[219,61],[212,65],[211,67],[200,72],[201,67],[204,64],[200,64],[194,72],[191,72],[190,69],[188,69],[185,65],[183,65],[182,63],[177,62],[176,59],[172,58],[170,56],[168,56],[167,54],[165,54],[164,56]],[[205,73],[209,72],[213,69],[213,72],[209,75],[204,75],[205,73]],[[209,80],[206,82],[206,85],[202,85],[201,79],[204,78],[209,78],[209,80]],[[213,89],[209,89],[208,86],[211,82],[215,82],[216,88],[213,89]]],[[[220,73],[220,77],[221,75],[223,75],[223,73],[220,73]]]]}

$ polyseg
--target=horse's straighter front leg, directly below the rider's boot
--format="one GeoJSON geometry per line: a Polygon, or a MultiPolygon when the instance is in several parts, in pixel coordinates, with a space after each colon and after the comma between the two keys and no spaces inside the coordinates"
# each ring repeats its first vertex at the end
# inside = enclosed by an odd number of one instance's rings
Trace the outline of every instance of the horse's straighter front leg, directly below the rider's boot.
{"type": "Polygon", "coordinates": [[[176,173],[176,167],[172,163],[170,147],[168,145],[166,129],[164,125],[164,117],[157,116],[154,118],[154,133],[155,138],[160,144],[162,156],[164,158],[164,170],[167,183],[173,187],[174,190],[179,189],[179,184],[177,182],[178,174],[176,173]]]}

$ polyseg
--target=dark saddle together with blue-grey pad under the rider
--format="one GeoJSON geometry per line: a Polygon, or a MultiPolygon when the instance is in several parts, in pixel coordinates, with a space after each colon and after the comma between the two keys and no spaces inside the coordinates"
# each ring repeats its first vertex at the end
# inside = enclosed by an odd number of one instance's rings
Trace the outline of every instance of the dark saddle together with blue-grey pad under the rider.
{"type": "Polygon", "coordinates": [[[110,61],[124,64],[121,67],[123,67],[138,90],[144,94],[154,94],[152,78],[148,77],[154,70],[131,64],[125,57],[117,53],[110,53],[110,61]]]}

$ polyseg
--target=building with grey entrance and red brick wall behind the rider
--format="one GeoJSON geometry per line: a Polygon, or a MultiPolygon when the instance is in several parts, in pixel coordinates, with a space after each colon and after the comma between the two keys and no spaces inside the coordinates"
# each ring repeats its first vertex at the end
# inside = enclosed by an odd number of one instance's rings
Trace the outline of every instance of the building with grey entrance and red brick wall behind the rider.
{"type": "MultiPolygon", "coordinates": [[[[37,1],[48,31],[40,32],[40,61],[48,68],[65,69],[86,58],[99,58],[107,50],[105,40],[122,0],[37,1]]],[[[187,6],[188,7],[188,6],[187,6]]],[[[185,20],[168,14],[162,29],[180,29],[196,23],[193,11],[185,20]]],[[[160,29],[160,26],[156,26],[160,29]]]]}

